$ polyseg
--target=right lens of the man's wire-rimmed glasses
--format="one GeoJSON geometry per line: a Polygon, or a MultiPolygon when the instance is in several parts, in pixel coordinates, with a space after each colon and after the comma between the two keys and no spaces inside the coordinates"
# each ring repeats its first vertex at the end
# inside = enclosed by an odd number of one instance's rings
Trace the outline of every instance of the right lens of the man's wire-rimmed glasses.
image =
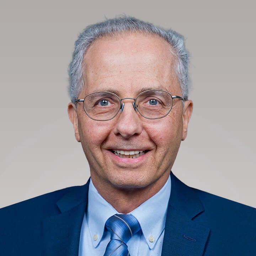
{"type": "Polygon", "coordinates": [[[172,108],[172,102],[171,94],[161,90],[145,91],[136,100],[138,111],[149,119],[166,116],[172,108]]]}

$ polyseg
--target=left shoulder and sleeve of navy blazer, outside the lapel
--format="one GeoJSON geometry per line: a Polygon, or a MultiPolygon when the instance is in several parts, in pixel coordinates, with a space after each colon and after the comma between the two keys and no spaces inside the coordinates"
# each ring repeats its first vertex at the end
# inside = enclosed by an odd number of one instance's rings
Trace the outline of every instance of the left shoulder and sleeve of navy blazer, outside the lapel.
{"type": "Polygon", "coordinates": [[[61,215],[58,202],[69,200],[71,195],[75,198],[84,188],[85,185],[63,188],[0,209],[3,255],[34,255],[34,252],[41,255],[44,222],[61,215]]]}

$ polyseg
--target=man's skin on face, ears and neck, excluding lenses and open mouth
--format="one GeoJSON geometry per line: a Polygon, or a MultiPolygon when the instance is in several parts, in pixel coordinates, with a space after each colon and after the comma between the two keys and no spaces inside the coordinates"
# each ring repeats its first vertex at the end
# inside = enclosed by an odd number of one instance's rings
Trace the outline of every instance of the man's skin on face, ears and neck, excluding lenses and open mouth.
{"type": "MultiPolygon", "coordinates": [[[[84,88],[78,98],[114,90],[119,98],[135,98],[141,90],[162,89],[182,96],[174,72],[171,46],[162,38],[141,33],[100,38],[87,50],[84,88]]],[[[146,119],[126,99],[124,110],[109,121],[90,119],[78,103],[68,105],[75,138],[90,165],[91,180],[101,196],[119,213],[129,213],[156,194],[167,181],[180,143],[187,136],[193,103],[174,99],[171,112],[146,119]],[[110,149],[148,150],[124,159],[110,149]]]]}

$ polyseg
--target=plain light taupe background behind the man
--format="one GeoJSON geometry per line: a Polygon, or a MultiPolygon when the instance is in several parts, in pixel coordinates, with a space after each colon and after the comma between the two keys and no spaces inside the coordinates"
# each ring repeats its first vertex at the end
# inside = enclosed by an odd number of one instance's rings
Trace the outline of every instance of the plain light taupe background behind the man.
{"type": "Polygon", "coordinates": [[[0,207],[82,185],[89,167],[68,119],[68,64],[89,24],[123,14],[183,34],[194,112],[173,172],[256,207],[252,1],[1,1],[0,207]]]}

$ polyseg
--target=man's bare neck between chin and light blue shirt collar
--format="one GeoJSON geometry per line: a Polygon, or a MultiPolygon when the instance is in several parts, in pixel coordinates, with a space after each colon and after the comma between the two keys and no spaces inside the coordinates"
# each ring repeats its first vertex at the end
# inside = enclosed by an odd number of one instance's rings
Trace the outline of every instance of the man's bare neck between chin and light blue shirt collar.
{"type": "Polygon", "coordinates": [[[144,203],[150,197],[154,196],[166,183],[169,175],[164,175],[155,183],[152,183],[143,188],[123,188],[115,187],[111,184],[98,182],[97,179],[92,179],[92,183],[96,187],[100,195],[110,203],[119,213],[127,214],[132,212],[140,204],[144,203]]]}

